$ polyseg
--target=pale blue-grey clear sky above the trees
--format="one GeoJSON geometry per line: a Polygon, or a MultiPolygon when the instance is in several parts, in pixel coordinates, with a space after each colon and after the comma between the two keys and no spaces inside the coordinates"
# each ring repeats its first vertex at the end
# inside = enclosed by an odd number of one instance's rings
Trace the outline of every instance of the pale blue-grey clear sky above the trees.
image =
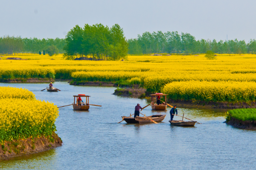
{"type": "Polygon", "coordinates": [[[256,39],[256,0],[0,0],[0,6],[0,37],[65,38],[76,25],[117,23],[127,39],[145,31],[256,39]]]}

